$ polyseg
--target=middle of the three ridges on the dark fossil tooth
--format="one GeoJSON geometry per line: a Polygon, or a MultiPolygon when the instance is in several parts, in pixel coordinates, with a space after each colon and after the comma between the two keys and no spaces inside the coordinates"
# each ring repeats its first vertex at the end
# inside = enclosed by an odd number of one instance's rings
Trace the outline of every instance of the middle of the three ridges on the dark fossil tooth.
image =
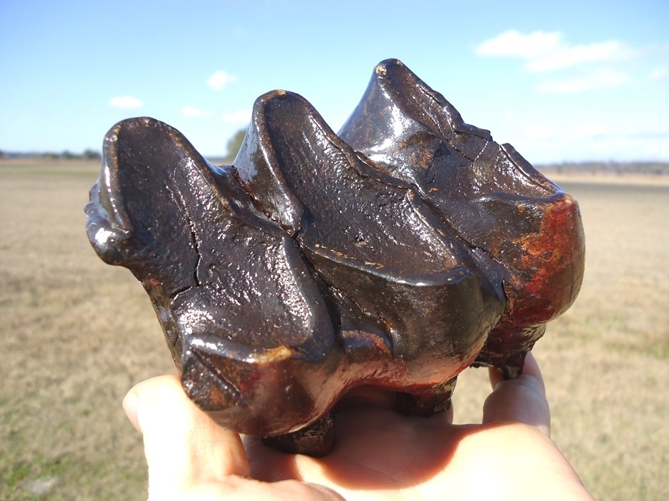
{"type": "Polygon", "coordinates": [[[270,92],[253,116],[263,128],[247,136],[265,154],[258,164],[237,156],[257,173],[246,186],[277,223],[285,211],[272,207],[279,188],[267,180],[288,190],[301,214],[289,231],[325,282],[380,318],[394,357],[469,358],[503,303],[469,249],[411,187],[359,159],[303,97],[270,92]]]}

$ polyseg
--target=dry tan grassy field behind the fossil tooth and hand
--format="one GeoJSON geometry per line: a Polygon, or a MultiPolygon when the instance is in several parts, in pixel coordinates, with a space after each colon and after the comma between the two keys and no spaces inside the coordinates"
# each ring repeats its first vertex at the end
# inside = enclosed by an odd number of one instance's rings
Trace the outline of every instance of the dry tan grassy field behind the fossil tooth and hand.
{"type": "MultiPolygon", "coordinates": [[[[121,400],[174,373],[145,292],[97,258],[83,206],[98,166],[0,163],[0,499],[142,500],[121,400]]],[[[536,346],[553,438],[601,500],[669,498],[669,185],[560,182],[581,204],[586,278],[536,346]]],[[[489,388],[469,369],[457,422],[489,388]]]]}

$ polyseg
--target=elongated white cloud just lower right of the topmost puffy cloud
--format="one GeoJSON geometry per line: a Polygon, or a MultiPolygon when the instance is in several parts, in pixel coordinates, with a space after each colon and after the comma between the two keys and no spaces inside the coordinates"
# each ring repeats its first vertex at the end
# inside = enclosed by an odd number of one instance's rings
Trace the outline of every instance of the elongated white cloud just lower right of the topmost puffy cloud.
{"type": "Polygon", "coordinates": [[[530,71],[551,71],[569,68],[580,63],[602,63],[620,61],[632,56],[632,49],[616,40],[573,47],[557,47],[546,56],[529,61],[525,68],[530,71]]]}

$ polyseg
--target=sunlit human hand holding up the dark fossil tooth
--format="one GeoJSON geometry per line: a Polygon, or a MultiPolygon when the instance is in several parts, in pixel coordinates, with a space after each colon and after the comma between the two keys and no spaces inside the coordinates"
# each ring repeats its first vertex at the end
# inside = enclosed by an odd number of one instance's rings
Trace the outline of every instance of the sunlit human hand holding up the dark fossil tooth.
{"type": "MultiPolygon", "coordinates": [[[[218,426],[176,376],[135,386],[123,407],[144,435],[149,499],[162,500],[592,500],[550,440],[546,390],[534,357],[493,392],[480,425],[453,425],[386,409],[392,396],[335,416],[326,457],[284,454],[218,426]]],[[[359,402],[358,402],[359,403],[359,402]]]]}

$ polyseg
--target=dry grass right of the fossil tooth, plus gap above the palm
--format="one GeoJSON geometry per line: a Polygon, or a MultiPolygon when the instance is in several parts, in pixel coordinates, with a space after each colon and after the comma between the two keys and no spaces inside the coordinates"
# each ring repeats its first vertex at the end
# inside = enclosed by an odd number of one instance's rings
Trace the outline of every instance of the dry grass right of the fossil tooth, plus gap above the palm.
{"type": "MultiPolygon", "coordinates": [[[[669,185],[560,185],[581,206],[586,274],[534,350],[553,439],[597,499],[668,499],[669,185]]],[[[476,419],[488,390],[466,371],[456,419],[476,419]]]]}

